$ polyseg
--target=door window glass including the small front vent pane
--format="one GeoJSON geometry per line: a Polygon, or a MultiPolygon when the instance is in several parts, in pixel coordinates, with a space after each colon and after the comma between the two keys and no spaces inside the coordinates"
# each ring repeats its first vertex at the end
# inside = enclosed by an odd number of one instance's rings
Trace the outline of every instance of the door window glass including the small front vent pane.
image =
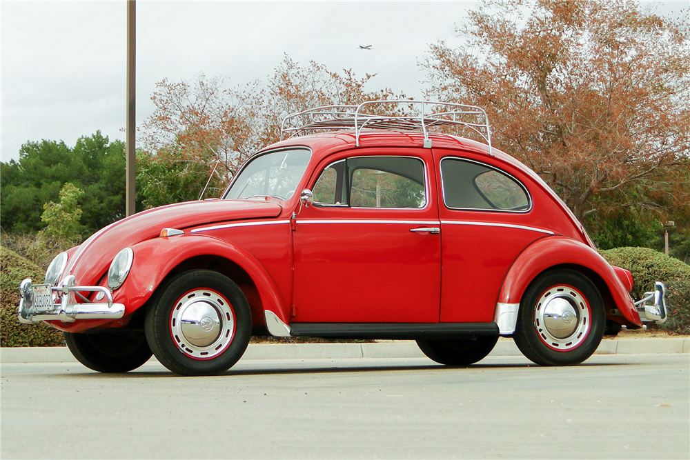
{"type": "Polygon", "coordinates": [[[410,157],[355,157],[327,166],[314,184],[316,206],[424,208],[424,163],[410,157]]]}

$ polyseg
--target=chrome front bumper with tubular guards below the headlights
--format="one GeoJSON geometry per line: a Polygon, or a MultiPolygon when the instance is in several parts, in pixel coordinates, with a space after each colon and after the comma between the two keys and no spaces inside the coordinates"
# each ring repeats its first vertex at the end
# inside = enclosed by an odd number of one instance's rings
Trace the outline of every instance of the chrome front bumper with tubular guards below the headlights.
{"type": "Polygon", "coordinates": [[[21,281],[19,285],[19,310],[17,317],[20,323],[31,324],[34,321],[63,321],[72,323],[77,319],[119,319],[124,316],[125,306],[112,303],[112,294],[103,286],[75,286],[75,277],[70,275],[63,279],[61,286],[50,288],[52,305],[34,306],[34,294],[31,279],[21,281]],[[57,292],[57,294],[56,294],[57,292]],[[106,302],[90,302],[80,292],[103,292],[106,302]],[[77,303],[75,296],[81,297],[84,303],[77,303]],[[56,302],[57,301],[57,302],[56,302]]]}

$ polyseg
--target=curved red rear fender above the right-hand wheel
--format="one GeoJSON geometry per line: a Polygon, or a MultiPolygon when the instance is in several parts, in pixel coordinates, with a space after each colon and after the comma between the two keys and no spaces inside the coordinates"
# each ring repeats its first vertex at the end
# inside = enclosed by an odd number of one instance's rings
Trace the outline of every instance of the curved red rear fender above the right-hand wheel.
{"type": "Polygon", "coordinates": [[[568,237],[542,238],[522,251],[506,274],[498,302],[519,304],[529,283],[544,270],[555,266],[580,266],[598,274],[625,319],[635,326],[642,326],[628,291],[609,263],[586,244],[568,237]]]}

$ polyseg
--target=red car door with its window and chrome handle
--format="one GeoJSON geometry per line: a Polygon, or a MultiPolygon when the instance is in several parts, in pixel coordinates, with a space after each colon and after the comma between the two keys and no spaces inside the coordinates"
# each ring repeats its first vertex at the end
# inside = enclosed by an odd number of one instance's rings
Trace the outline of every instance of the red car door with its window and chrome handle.
{"type": "Polygon", "coordinates": [[[293,321],[437,323],[441,239],[424,149],[324,162],[293,232],[293,321]]]}

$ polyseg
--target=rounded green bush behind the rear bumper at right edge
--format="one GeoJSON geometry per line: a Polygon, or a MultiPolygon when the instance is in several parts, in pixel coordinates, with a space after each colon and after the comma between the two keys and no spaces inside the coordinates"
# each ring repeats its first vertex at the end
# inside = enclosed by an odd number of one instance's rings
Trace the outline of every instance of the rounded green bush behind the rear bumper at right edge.
{"type": "Polygon", "coordinates": [[[635,299],[654,288],[654,281],[666,285],[669,318],[661,328],[674,334],[690,334],[690,266],[662,252],[648,248],[615,248],[601,251],[604,259],[633,274],[635,299]]]}

